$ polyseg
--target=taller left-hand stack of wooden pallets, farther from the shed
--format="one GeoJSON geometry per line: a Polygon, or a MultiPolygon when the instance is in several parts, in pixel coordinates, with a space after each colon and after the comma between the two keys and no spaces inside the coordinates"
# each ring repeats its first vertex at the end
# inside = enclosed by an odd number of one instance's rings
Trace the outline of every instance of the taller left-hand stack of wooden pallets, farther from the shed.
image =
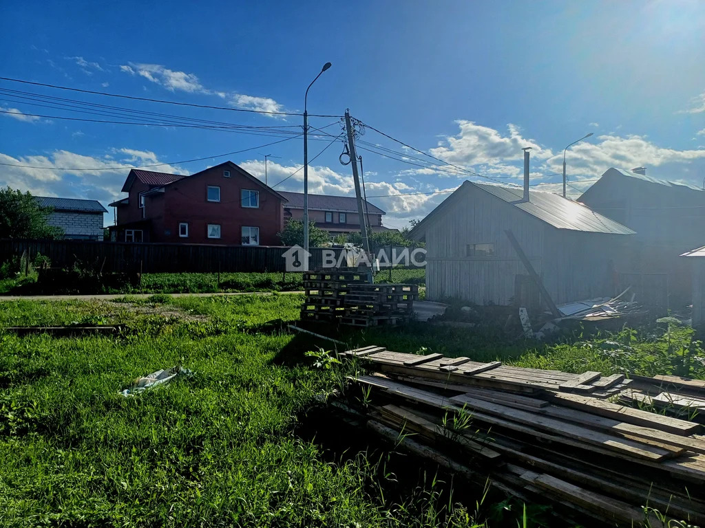
{"type": "Polygon", "coordinates": [[[343,301],[350,286],[369,284],[369,270],[337,268],[305,272],[303,276],[306,300],[301,308],[301,320],[334,321],[345,314],[343,301]]]}

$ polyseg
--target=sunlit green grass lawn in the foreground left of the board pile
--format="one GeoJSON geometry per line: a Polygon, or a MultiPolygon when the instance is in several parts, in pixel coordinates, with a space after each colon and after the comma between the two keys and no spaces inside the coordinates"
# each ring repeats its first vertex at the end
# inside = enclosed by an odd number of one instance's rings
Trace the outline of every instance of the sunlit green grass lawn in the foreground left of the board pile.
{"type": "Polygon", "coordinates": [[[0,303],[0,326],[128,326],[110,338],[0,333],[1,526],[475,525],[432,476],[391,501],[374,461],[333,463],[295,434],[345,375],[303,359],[309,338],[257,332],[297,318],[299,296],[164,300],[0,303]],[[173,365],[195,376],[119,394],[173,365]]]}

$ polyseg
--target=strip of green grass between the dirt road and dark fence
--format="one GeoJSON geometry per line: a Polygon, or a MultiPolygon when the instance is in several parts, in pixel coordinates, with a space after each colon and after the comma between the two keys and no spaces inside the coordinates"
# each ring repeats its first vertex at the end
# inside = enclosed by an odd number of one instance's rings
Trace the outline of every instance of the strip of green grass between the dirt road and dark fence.
{"type": "MultiPolygon", "coordinates": [[[[389,279],[388,270],[376,275],[376,282],[403,282],[424,284],[424,269],[407,270],[395,268],[389,279]]],[[[85,283],[84,283],[85,284],[85,283]]],[[[92,288],[100,291],[79,291],[69,288],[62,291],[40,291],[36,275],[27,278],[0,280],[0,294],[59,294],[59,293],[104,293],[104,294],[201,294],[218,291],[295,291],[302,289],[301,273],[221,273],[220,282],[216,273],[145,273],[141,284],[123,284],[120,287],[92,288]]]]}

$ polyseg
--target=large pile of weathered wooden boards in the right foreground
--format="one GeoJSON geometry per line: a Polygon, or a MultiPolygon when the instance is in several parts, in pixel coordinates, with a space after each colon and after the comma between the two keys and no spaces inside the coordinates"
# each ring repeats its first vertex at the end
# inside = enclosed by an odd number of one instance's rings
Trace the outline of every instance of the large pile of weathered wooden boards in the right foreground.
{"type": "Polygon", "coordinates": [[[343,356],[372,372],[351,378],[350,397],[333,408],[398,449],[479,484],[489,478],[527,503],[551,503],[583,525],[705,526],[701,425],[615,403],[632,386],[664,383],[680,389],[673,399],[705,398],[705,382],[575,375],[379,346],[343,356]]]}

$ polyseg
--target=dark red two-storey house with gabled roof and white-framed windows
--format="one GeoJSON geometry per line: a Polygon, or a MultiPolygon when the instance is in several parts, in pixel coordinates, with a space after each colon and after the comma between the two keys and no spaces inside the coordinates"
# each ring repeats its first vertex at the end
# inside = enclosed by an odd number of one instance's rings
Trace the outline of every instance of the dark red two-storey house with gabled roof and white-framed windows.
{"type": "Polygon", "coordinates": [[[231,161],[190,176],[130,170],[111,240],[278,246],[286,199],[231,161]]]}

